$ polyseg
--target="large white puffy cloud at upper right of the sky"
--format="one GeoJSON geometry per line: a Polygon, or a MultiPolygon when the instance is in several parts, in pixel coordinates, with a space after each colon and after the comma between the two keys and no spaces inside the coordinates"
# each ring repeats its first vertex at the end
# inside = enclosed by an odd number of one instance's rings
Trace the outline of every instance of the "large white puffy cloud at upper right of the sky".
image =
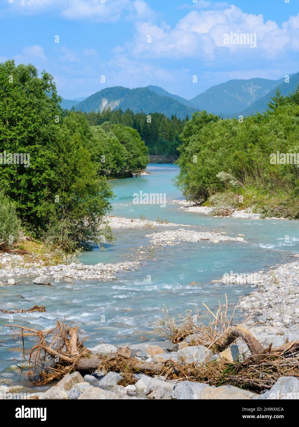
{"type": "MultiPolygon", "coordinates": [[[[206,2],[209,3],[209,2],[206,2]]],[[[263,15],[242,12],[234,5],[226,9],[192,10],[173,29],[165,22],[136,24],[136,34],[130,49],[135,55],[154,58],[198,58],[200,61],[231,61],[245,58],[282,58],[299,50],[299,14],[279,26],[263,15]],[[249,34],[250,43],[226,44],[226,34],[249,34]],[[151,43],[148,43],[151,36],[151,43]],[[253,44],[253,42],[251,43],[253,44]]]]}

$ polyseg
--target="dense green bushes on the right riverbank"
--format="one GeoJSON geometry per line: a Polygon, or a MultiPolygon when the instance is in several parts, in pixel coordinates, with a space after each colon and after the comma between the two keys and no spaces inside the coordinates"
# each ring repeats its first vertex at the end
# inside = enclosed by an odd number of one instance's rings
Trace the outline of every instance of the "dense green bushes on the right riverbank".
{"type": "MultiPolygon", "coordinates": [[[[202,203],[215,193],[236,192],[239,187],[245,193],[253,189],[261,199],[269,194],[277,207],[271,204],[269,213],[275,216],[290,212],[287,203],[279,201],[288,199],[295,205],[298,200],[299,167],[273,164],[270,158],[276,152],[299,153],[298,97],[299,89],[284,102],[273,98],[273,111],[246,117],[244,122],[219,120],[206,111],[194,113],[180,135],[177,161],[176,184],[186,199],[202,203]]],[[[297,217],[296,208],[292,211],[297,217]]]]}

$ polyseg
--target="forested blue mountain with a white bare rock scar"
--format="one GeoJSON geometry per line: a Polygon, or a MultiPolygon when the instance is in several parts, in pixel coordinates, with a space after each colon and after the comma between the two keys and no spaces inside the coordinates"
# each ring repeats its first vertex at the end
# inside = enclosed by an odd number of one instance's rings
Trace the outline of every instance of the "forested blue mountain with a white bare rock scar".
{"type": "Polygon", "coordinates": [[[75,105],[76,110],[87,113],[102,111],[108,107],[111,110],[122,108],[123,111],[129,108],[134,113],[140,111],[146,114],[163,113],[167,117],[176,114],[181,119],[185,118],[187,114],[191,117],[192,113],[196,111],[196,108],[184,105],[173,97],[160,95],[157,91],[148,88],[129,89],[122,86],[102,89],[75,105]]]}

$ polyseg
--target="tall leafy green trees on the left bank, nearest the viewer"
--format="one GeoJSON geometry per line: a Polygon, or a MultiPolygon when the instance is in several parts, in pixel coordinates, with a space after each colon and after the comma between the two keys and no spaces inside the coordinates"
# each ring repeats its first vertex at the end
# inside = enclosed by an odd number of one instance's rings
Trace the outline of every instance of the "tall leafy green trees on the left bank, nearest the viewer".
{"type": "Polygon", "coordinates": [[[62,120],[59,101],[48,73],[39,77],[32,65],[0,64],[1,151],[30,155],[29,167],[0,166],[0,188],[31,234],[69,252],[97,239],[113,192],[99,176],[90,125],[75,112],[62,120]]]}

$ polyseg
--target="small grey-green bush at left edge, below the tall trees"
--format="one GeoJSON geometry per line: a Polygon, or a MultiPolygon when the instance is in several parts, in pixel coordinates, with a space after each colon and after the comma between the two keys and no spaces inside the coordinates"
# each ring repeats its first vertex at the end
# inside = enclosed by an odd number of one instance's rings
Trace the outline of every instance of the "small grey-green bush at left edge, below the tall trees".
{"type": "Polygon", "coordinates": [[[0,247],[11,246],[16,243],[21,222],[18,219],[15,204],[0,191],[0,247]]]}

